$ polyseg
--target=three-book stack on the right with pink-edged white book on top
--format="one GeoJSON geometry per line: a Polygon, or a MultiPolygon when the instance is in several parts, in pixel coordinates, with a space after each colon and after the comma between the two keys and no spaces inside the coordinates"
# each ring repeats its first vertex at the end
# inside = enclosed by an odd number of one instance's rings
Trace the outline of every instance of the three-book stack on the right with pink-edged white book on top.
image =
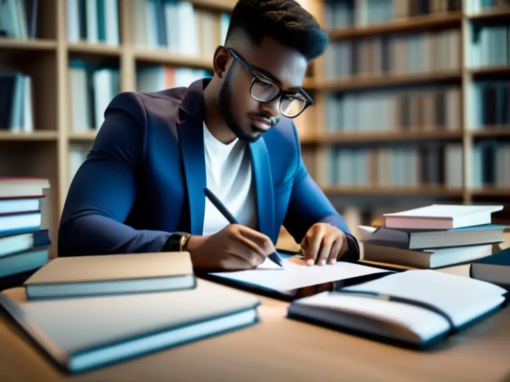
{"type": "Polygon", "coordinates": [[[473,262],[503,242],[506,226],[491,224],[494,205],[433,204],[387,213],[383,227],[359,226],[364,260],[440,268],[473,262]]]}

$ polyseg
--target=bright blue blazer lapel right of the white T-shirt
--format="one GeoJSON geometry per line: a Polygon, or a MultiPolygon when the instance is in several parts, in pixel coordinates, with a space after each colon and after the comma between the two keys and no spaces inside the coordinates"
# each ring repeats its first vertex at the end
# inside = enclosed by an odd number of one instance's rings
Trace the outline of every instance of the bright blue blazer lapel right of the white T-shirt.
{"type": "Polygon", "coordinates": [[[274,196],[269,154],[262,138],[249,144],[253,180],[257,192],[259,231],[276,243],[274,230],[274,196]]]}

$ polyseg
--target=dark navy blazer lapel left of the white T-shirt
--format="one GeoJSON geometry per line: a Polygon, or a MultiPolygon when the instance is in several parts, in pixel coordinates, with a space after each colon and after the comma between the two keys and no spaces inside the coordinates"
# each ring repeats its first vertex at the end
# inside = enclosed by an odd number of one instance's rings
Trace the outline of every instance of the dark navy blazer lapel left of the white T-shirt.
{"type": "Polygon", "coordinates": [[[203,146],[202,81],[195,81],[188,88],[179,110],[179,122],[177,122],[192,235],[202,234],[206,209],[206,196],[203,193],[207,180],[203,146]]]}

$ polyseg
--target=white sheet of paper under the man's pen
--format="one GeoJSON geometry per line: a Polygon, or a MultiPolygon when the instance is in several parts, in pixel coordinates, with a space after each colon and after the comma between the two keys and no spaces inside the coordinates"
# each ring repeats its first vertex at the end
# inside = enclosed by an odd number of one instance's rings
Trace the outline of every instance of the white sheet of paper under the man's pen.
{"type": "MultiPolygon", "coordinates": [[[[216,272],[213,275],[274,290],[291,290],[351,277],[386,272],[384,269],[346,262],[337,262],[334,265],[309,266],[299,255],[282,258],[282,260],[284,262],[284,269],[258,267],[257,269],[235,272],[216,272]]],[[[266,265],[271,266],[269,264],[266,265]]]]}

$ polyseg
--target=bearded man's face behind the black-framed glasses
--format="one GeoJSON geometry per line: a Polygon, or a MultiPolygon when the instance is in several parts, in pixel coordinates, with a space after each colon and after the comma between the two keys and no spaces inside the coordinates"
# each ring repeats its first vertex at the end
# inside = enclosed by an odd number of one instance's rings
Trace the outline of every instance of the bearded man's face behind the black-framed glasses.
{"type": "MultiPolygon", "coordinates": [[[[301,90],[308,63],[299,52],[270,38],[265,38],[258,47],[246,44],[233,49],[251,69],[264,75],[262,78],[271,79],[284,91],[301,90]]],[[[271,102],[254,99],[250,94],[253,74],[236,58],[231,56],[230,60],[219,93],[221,113],[241,140],[254,142],[272,127],[269,118],[280,114],[280,97],[271,102]]],[[[264,93],[264,86],[267,85],[263,81],[258,81],[256,89],[260,94],[264,93]]],[[[268,88],[269,93],[277,88],[271,89],[268,88]]]]}

